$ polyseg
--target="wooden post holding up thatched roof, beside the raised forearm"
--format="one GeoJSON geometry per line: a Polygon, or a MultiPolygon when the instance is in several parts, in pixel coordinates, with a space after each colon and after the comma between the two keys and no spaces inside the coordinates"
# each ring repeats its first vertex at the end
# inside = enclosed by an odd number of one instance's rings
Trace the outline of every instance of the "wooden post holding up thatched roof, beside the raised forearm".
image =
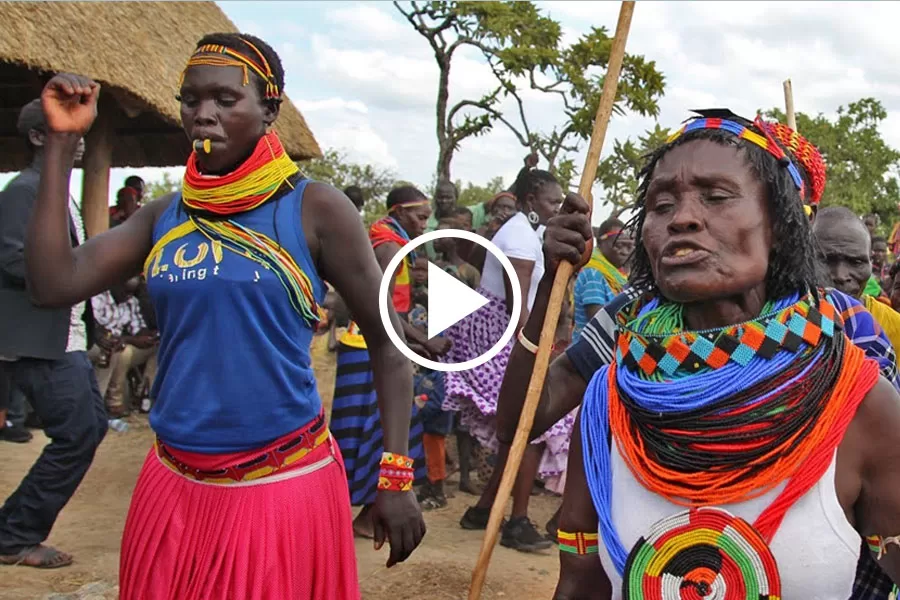
{"type": "Polygon", "coordinates": [[[97,119],[84,138],[81,216],[87,237],[109,229],[109,170],[115,137],[111,103],[100,103],[97,119]]]}

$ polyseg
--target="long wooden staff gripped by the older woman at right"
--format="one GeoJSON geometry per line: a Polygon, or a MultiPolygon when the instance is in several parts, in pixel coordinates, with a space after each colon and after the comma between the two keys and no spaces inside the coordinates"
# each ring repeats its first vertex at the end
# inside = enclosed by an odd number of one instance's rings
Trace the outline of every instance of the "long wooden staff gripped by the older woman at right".
{"type": "MultiPolygon", "coordinates": [[[[588,154],[587,158],[585,158],[584,170],[581,172],[581,182],[578,186],[578,193],[582,198],[590,197],[591,186],[597,175],[597,165],[600,162],[600,152],[603,150],[606,128],[609,125],[609,118],[612,115],[613,104],[616,100],[619,73],[622,70],[622,59],[625,56],[625,40],[628,38],[628,29],[631,26],[633,13],[634,0],[622,2],[622,7],[619,10],[619,22],[616,25],[616,35],[613,38],[612,48],[609,53],[606,77],[603,79],[603,92],[600,96],[600,103],[597,106],[597,114],[594,117],[591,143],[588,146],[588,154]]],[[[503,520],[503,514],[506,512],[506,502],[509,500],[516,474],[519,472],[519,465],[522,462],[522,455],[525,453],[525,448],[528,445],[528,434],[531,432],[531,425],[534,423],[534,413],[541,399],[544,378],[547,375],[547,367],[550,364],[550,351],[553,347],[556,326],[559,322],[559,313],[565,298],[566,287],[574,270],[574,265],[562,262],[553,280],[553,289],[550,292],[547,314],[544,317],[544,325],[541,329],[534,369],[531,372],[531,381],[528,384],[528,393],[525,396],[525,404],[519,417],[516,436],[513,438],[512,446],[509,449],[509,458],[506,461],[506,468],[503,470],[503,478],[500,480],[500,487],[497,490],[496,498],[494,498],[494,505],[491,507],[487,531],[485,531],[484,541],[481,544],[481,554],[478,556],[478,562],[475,564],[475,570],[472,573],[469,600],[479,600],[481,598],[481,589],[484,587],[484,579],[487,575],[491,553],[497,543],[500,523],[503,520]]]]}

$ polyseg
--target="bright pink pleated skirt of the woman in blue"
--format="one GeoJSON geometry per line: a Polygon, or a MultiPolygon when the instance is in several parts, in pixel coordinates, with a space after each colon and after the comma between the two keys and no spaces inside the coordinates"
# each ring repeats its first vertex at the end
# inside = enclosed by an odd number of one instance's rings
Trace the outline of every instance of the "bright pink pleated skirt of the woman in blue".
{"type": "Polygon", "coordinates": [[[151,449],[125,523],[119,597],[359,600],[351,523],[331,438],[284,471],[226,484],[190,479],[151,449]]]}

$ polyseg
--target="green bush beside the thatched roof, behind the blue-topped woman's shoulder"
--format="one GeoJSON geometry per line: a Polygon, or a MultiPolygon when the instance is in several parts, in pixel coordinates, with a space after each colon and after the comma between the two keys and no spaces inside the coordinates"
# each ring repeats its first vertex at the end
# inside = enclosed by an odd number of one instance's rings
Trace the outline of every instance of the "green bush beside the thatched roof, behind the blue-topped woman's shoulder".
{"type": "Polygon", "coordinates": [[[359,164],[347,159],[344,152],[329,148],[322,158],[314,158],[298,163],[304,175],[316,181],[333,185],[339,190],[357,185],[362,189],[363,221],[373,223],[387,214],[385,197],[398,182],[390,169],[368,164],[359,164]]]}

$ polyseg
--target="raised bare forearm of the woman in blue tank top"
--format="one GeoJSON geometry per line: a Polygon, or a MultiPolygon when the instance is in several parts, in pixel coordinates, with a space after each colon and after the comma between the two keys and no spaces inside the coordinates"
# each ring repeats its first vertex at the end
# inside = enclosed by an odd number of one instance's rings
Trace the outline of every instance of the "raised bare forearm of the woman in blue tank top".
{"type": "Polygon", "coordinates": [[[38,304],[54,304],[75,275],[69,236],[69,178],[79,138],[47,133],[37,199],[25,237],[28,290],[38,304]]]}

